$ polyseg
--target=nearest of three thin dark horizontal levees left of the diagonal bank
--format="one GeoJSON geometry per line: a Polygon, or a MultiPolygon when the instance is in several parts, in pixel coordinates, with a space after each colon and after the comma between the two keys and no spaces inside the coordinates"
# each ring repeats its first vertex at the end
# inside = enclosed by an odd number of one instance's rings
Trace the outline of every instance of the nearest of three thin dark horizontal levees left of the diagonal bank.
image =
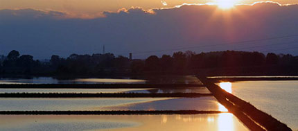
{"type": "Polygon", "coordinates": [[[71,115],[71,114],[81,114],[81,115],[94,115],[94,114],[112,114],[112,115],[123,115],[123,114],[218,114],[225,113],[220,111],[198,111],[198,110],[128,110],[128,111],[0,111],[0,114],[33,114],[33,115],[71,115]]]}

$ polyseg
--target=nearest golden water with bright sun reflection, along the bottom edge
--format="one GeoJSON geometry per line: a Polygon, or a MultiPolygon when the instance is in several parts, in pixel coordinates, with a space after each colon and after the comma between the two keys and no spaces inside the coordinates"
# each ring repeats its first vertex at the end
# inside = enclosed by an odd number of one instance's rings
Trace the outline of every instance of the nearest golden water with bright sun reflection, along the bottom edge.
{"type": "Polygon", "coordinates": [[[0,115],[0,130],[247,130],[235,116],[195,115],[0,115]],[[78,125],[76,125],[78,124],[78,125]]]}

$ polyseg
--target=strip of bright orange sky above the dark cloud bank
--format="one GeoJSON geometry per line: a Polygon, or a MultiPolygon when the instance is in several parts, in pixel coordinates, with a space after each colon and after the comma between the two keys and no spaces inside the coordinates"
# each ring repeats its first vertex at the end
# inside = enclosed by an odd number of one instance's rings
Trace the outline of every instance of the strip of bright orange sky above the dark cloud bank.
{"type": "MultiPolygon", "coordinates": [[[[0,0],[0,9],[33,8],[35,10],[55,10],[67,12],[72,17],[98,17],[104,11],[115,12],[121,8],[141,7],[171,8],[189,4],[205,4],[233,1],[235,4],[252,4],[262,0],[0,0]]],[[[266,0],[263,0],[266,1],[266,0]]],[[[275,0],[281,4],[295,4],[297,0],[275,0]]]]}

